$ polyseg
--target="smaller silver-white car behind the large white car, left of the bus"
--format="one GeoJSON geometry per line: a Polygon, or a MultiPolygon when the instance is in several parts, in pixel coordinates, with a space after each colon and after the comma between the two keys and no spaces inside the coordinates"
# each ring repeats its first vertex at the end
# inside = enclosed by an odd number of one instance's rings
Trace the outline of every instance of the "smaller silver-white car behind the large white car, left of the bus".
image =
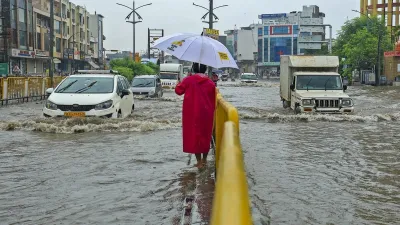
{"type": "Polygon", "coordinates": [[[131,90],[134,95],[144,95],[151,98],[163,96],[161,80],[157,75],[136,76],[132,80],[131,90]]]}

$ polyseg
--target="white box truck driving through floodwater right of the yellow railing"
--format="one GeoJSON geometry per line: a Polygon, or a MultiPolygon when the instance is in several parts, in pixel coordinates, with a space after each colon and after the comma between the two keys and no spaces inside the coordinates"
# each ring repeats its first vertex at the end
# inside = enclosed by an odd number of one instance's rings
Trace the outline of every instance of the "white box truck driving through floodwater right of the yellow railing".
{"type": "Polygon", "coordinates": [[[299,113],[353,113],[345,93],[337,56],[281,56],[280,95],[283,107],[299,113]]]}

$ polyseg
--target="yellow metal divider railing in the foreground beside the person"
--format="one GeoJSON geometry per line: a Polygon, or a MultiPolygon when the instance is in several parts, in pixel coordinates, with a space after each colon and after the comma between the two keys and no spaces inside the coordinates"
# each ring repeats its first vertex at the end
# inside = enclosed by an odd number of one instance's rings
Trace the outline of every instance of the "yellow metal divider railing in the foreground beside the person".
{"type": "Polygon", "coordinates": [[[239,137],[237,109],[217,94],[216,185],[211,225],[251,225],[250,196],[239,137]]]}

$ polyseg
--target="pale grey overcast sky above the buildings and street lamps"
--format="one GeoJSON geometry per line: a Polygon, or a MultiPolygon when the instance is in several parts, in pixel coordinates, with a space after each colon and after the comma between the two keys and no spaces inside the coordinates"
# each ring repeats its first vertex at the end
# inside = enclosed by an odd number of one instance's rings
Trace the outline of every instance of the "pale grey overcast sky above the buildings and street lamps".
{"type": "MultiPolygon", "coordinates": [[[[91,13],[97,11],[104,18],[106,49],[132,50],[132,24],[125,22],[129,9],[117,5],[132,6],[132,0],[72,0],[75,4],[86,6],[91,13]]],[[[143,22],[136,25],[136,51],[147,47],[147,28],[164,29],[165,34],[178,32],[201,33],[208,26],[201,22],[205,9],[193,6],[193,2],[208,8],[208,0],[137,0],[136,7],[147,3],[138,13],[143,22]]],[[[219,22],[214,28],[223,31],[248,26],[258,22],[258,15],[268,13],[289,13],[301,11],[303,5],[318,5],[326,14],[325,23],[332,24],[334,35],[347,19],[358,16],[352,9],[359,9],[359,0],[214,0],[214,7],[229,5],[215,11],[219,22]]]]}

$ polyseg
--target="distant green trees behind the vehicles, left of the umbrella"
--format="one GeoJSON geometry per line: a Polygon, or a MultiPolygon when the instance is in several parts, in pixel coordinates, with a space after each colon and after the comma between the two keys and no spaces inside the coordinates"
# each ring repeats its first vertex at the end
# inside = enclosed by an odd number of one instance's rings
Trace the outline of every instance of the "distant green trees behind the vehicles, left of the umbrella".
{"type": "Polygon", "coordinates": [[[111,60],[110,66],[129,80],[132,80],[137,75],[157,74],[159,71],[159,67],[153,63],[145,65],[129,58],[111,60]]]}

